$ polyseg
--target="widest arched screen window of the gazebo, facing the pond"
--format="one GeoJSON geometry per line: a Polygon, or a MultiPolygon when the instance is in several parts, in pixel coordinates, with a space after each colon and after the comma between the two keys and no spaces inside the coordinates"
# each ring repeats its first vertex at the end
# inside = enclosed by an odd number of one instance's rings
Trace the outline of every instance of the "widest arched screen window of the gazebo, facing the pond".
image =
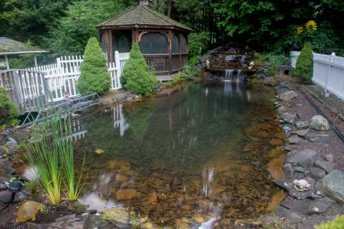
{"type": "Polygon", "coordinates": [[[140,41],[143,54],[167,54],[167,37],[159,32],[143,34],[140,41]]]}

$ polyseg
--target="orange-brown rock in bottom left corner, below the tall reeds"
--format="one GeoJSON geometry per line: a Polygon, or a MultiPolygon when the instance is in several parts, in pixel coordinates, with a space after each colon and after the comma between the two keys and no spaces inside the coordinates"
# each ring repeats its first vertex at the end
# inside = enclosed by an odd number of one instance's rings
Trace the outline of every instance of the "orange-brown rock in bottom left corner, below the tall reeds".
{"type": "Polygon", "coordinates": [[[41,203],[35,201],[25,201],[17,211],[17,223],[23,223],[29,220],[35,221],[37,213],[42,209],[41,203]]]}

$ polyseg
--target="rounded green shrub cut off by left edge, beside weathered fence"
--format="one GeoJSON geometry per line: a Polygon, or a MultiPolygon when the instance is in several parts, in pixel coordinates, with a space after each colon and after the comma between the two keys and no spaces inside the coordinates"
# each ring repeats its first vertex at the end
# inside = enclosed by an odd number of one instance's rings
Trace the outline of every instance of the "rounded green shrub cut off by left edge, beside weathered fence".
{"type": "Polygon", "coordinates": [[[5,88],[0,87],[0,126],[14,123],[18,116],[18,108],[10,101],[5,88]]]}

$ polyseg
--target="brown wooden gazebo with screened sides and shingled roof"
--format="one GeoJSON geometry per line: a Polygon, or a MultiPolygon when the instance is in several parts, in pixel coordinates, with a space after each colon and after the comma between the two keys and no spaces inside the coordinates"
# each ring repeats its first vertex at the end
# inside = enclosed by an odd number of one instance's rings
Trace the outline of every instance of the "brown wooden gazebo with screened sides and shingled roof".
{"type": "Polygon", "coordinates": [[[138,43],[148,66],[162,79],[180,72],[188,61],[188,35],[191,28],[155,12],[150,0],[140,0],[139,6],[100,23],[99,39],[109,62],[114,53],[129,52],[138,43]]]}

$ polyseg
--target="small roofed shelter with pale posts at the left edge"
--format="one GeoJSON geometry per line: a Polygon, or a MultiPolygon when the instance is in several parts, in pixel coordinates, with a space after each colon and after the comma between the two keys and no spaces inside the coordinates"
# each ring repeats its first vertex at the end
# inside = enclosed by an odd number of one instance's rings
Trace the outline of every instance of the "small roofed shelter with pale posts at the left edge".
{"type": "Polygon", "coordinates": [[[34,54],[34,66],[37,67],[36,54],[45,52],[47,51],[6,37],[0,37],[0,56],[5,56],[7,70],[10,70],[8,63],[8,56],[10,55],[34,54]]]}

